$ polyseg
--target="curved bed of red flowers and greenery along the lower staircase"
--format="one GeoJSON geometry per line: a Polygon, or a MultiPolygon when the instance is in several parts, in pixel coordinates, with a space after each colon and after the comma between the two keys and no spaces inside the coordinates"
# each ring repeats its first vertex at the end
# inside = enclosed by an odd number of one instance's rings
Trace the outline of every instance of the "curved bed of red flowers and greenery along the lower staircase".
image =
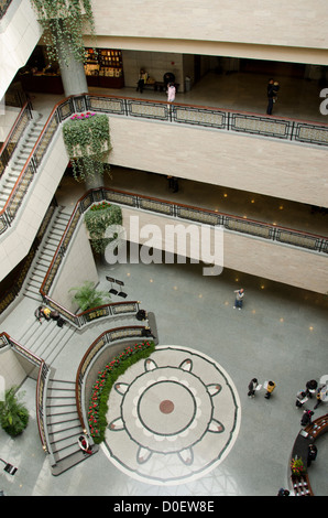
{"type": "Polygon", "coordinates": [[[98,371],[88,408],[88,424],[95,443],[99,444],[105,440],[108,398],[113,384],[131,365],[147,358],[154,350],[154,342],[142,342],[128,346],[119,356],[109,361],[103,370],[98,371]]]}

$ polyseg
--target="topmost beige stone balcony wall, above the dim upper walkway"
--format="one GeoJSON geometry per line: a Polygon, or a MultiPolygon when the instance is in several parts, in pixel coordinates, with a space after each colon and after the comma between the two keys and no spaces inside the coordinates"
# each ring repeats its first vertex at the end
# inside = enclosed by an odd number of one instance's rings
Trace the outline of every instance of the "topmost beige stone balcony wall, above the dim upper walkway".
{"type": "Polygon", "coordinates": [[[327,48],[326,0],[96,0],[96,33],[327,48]]]}

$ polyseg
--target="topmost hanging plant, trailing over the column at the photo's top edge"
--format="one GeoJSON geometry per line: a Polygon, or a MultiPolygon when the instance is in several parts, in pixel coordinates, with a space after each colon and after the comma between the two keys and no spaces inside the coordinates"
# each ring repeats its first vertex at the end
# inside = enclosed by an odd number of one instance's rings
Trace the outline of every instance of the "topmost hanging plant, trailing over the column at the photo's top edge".
{"type": "Polygon", "coordinates": [[[85,62],[84,33],[95,37],[91,0],[31,0],[44,29],[50,62],[85,62]]]}

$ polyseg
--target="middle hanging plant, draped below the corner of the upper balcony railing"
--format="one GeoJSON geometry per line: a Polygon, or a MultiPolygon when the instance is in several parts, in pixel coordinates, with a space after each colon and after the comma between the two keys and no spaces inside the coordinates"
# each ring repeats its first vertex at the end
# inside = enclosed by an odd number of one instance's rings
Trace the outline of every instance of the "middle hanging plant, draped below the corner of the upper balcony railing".
{"type": "Polygon", "coordinates": [[[111,149],[107,115],[76,114],[63,125],[63,137],[77,181],[95,172],[103,174],[103,161],[111,149]]]}

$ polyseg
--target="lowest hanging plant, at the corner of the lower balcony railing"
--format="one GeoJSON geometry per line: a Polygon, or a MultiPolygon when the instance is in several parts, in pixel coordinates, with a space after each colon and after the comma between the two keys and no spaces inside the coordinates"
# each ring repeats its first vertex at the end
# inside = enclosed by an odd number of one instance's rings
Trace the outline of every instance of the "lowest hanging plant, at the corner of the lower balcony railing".
{"type": "Polygon", "coordinates": [[[106,230],[110,225],[122,225],[122,209],[107,202],[98,203],[85,214],[85,223],[95,252],[103,253],[108,245],[118,237],[117,234],[105,237],[106,230]]]}

